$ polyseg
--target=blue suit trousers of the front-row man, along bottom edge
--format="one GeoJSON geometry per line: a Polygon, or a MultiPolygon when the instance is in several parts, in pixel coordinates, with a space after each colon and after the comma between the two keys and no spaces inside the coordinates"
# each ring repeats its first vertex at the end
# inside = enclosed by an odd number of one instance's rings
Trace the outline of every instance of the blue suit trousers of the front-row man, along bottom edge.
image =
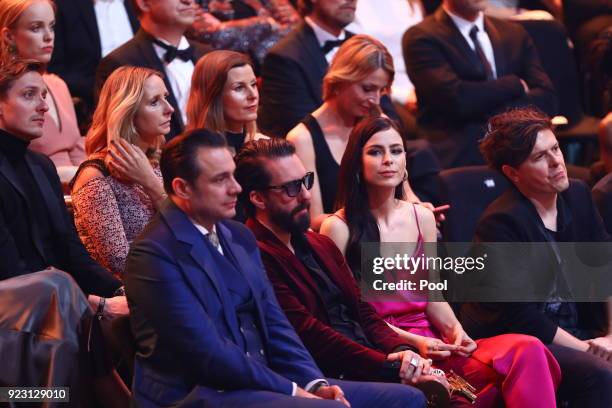
{"type": "MultiPolygon", "coordinates": [[[[425,396],[416,388],[402,384],[369,383],[329,379],[330,384],[338,385],[352,408],[424,408],[425,396]]],[[[269,391],[230,391],[217,392],[197,387],[183,401],[181,406],[198,406],[197,401],[204,399],[210,407],[230,408],[342,408],[337,401],[322,399],[295,398],[269,391]],[[206,395],[203,395],[206,394],[206,395]]],[[[201,405],[199,405],[201,406],[201,405]]],[[[206,405],[208,407],[208,405],[206,405]]]]}

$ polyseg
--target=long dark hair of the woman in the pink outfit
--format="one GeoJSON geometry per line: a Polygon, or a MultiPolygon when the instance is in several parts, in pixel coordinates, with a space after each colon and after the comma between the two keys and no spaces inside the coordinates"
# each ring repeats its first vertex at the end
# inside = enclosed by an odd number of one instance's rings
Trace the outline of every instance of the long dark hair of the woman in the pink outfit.
{"type": "MultiPolygon", "coordinates": [[[[397,131],[402,138],[404,150],[406,150],[406,140],[394,121],[382,116],[366,116],[351,131],[340,163],[335,207],[336,210],[344,208],[349,228],[346,259],[354,271],[359,269],[361,263],[360,242],[380,241],[380,232],[370,212],[368,190],[363,178],[363,147],[376,133],[388,129],[397,131]]],[[[404,187],[403,183],[400,183],[395,188],[395,198],[402,199],[403,197],[404,187]]]]}

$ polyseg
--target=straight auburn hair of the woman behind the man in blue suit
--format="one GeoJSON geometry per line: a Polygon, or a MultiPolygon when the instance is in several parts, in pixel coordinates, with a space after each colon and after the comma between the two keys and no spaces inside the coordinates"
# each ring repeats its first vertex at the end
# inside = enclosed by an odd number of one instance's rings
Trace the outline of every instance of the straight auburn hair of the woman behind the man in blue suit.
{"type": "MultiPolygon", "coordinates": [[[[236,51],[217,50],[204,55],[195,66],[191,77],[191,92],[187,102],[186,130],[206,128],[225,134],[227,127],[223,112],[223,89],[232,68],[251,64],[251,60],[236,51]]],[[[255,121],[246,124],[247,141],[257,133],[255,121]]]]}

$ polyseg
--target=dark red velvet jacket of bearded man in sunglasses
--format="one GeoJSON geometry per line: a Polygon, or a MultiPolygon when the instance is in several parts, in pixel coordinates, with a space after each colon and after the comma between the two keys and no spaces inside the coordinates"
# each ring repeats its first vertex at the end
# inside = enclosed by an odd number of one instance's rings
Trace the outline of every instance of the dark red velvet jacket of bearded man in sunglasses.
{"type": "Polygon", "coordinates": [[[326,376],[353,380],[382,380],[386,355],[406,342],[361,300],[360,290],[342,253],[332,240],[315,232],[306,237],[322,269],[344,295],[351,317],[376,349],[364,347],[334,330],[323,298],[308,269],[269,229],[249,219],[276,297],[289,321],[326,376]]]}

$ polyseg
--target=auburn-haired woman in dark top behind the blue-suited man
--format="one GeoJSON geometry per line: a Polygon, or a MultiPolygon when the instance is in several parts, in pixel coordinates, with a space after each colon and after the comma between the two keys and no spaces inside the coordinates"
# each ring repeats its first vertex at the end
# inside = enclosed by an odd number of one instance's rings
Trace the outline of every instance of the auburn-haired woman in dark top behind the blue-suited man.
{"type": "Polygon", "coordinates": [[[257,133],[259,91],[253,66],[244,54],[212,51],[196,64],[187,104],[187,129],[222,133],[233,155],[257,133]]]}

